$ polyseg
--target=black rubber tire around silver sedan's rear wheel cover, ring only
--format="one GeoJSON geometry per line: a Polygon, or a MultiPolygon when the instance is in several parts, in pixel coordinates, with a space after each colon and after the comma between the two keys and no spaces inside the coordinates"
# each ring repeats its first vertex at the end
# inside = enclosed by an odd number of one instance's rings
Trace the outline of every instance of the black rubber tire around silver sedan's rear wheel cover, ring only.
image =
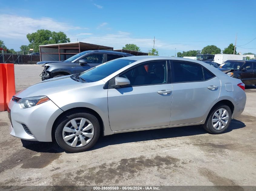
{"type": "Polygon", "coordinates": [[[227,105],[219,104],[219,105],[217,105],[217,106],[215,106],[214,108],[211,109],[211,111],[210,111],[210,113],[209,113],[209,115],[208,115],[208,117],[207,117],[207,119],[206,119],[206,121],[205,121],[205,123],[203,125],[203,128],[206,131],[208,131],[209,133],[221,134],[221,133],[223,133],[224,131],[226,131],[228,129],[228,127],[229,127],[229,125],[231,123],[231,117],[232,117],[231,109],[227,105]],[[229,119],[228,119],[227,125],[223,129],[216,130],[216,129],[214,129],[211,120],[212,120],[212,116],[214,115],[214,113],[217,110],[221,109],[221,108],[224,108],[224,109],[226,109],[228,111],[229,119]]]}

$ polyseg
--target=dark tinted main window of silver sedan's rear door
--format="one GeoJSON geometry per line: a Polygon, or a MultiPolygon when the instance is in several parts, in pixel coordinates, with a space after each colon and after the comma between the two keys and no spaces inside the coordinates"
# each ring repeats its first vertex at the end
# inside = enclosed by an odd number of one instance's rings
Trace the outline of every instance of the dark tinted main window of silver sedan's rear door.
{"type": "Polygon", "coordinates": [[[189,82],[204,80],[202,66],[200,65],[186,62],[173,62],[171,71],[172,82],[189,82]]]}

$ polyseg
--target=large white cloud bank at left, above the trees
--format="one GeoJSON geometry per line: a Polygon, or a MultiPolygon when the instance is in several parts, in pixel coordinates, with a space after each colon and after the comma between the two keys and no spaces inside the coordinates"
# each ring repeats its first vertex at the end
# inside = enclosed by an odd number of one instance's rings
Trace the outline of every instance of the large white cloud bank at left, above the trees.
{"type": "Polygon", "coordinates": [[[0,37],[26,39],[28,33],[36,32],[38,29],[52,31],[78,30],[71,24],[54,21],[52,18],[42,17],[34,19],[30,17],[0,14],[0,37]]]}

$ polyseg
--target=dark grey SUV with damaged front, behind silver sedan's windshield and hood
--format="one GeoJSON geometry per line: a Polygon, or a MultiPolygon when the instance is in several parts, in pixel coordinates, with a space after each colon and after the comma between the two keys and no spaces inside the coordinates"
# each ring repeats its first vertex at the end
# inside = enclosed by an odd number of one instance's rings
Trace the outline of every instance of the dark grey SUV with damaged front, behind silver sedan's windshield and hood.
{"type": "Polygon", "coordinates": [[[64,61],[43,61],[37,62],[37,64],[45,67],[40,76],[42,80],[46,80],[64,75],[78,74],[104,62],[127,56],[133,55],[108,50],[88,50],[64,61]]]}

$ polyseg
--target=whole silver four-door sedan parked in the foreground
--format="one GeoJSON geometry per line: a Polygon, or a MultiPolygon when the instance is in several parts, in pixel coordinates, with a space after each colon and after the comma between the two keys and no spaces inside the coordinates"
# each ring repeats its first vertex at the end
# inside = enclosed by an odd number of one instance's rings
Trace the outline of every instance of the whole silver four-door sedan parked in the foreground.
{"type": "Polygon", "coordinates": [[[202,125],[224,132],[240,115],[241,80],[201,61],[131,56],[80,74],[42,81],[9,103],[11,135],[68,152],[91,148],[100,134],[202,125]]]}

